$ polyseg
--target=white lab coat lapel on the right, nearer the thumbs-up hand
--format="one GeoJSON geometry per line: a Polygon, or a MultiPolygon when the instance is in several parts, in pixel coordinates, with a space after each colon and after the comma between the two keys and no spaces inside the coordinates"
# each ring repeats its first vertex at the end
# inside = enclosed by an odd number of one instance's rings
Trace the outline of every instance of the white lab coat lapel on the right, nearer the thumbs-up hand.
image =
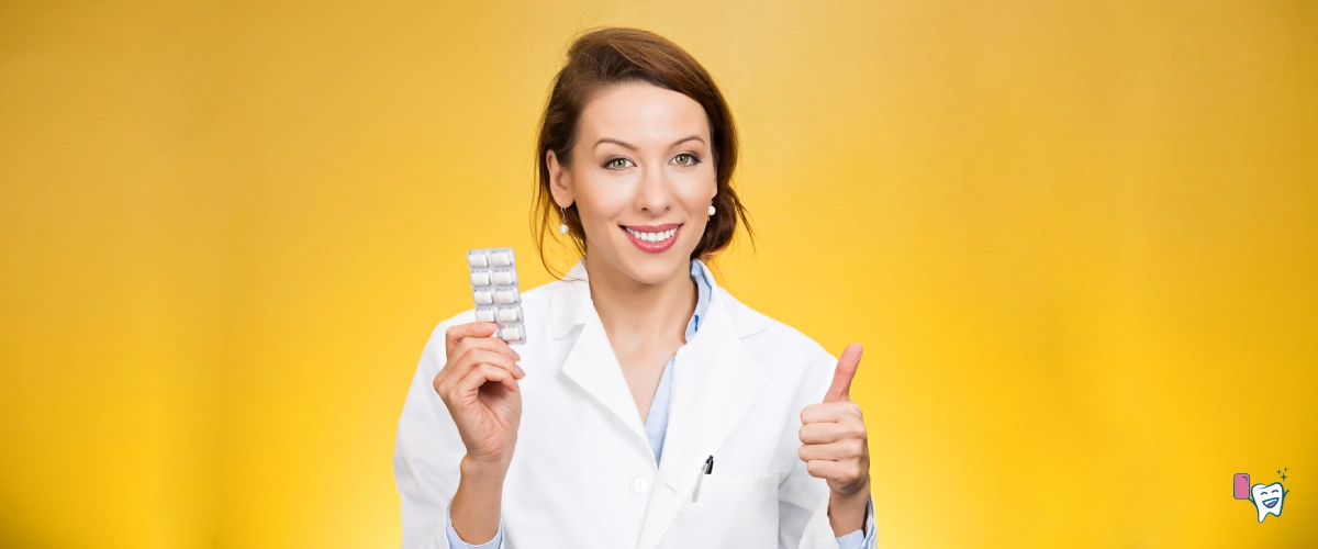
{"type": "Polygon", "coordinates": [[[677,352],[659,479],[638,549],[659,544],[681,506],[691,503],[705,458],[717,454],[768,383],[768,374],[738,337],[751,328],[750,323],[737,321],[729,294],[717,286],[710,294],[700,329],[677,352]]]}

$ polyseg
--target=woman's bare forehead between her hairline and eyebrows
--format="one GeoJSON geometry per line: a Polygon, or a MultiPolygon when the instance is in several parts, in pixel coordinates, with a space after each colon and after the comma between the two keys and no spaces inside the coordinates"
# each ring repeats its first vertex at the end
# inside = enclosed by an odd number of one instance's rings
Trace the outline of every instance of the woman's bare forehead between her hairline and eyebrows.
{"type": "Polygon", "coordinates": [[[705,109],[683,93],[643,82],[609,86],[581,109],[581,142],[608,137],[646,147],[666,147],[687,136],[709,142],[705,109]]]}

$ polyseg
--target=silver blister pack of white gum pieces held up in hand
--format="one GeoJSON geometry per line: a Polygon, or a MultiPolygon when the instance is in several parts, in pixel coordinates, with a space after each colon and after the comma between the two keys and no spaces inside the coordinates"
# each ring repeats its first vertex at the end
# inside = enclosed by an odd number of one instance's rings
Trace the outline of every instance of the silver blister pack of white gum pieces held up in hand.
{"type": "Polygon", "coordinates": [[[511,248],[477,248],[467,251],[472,269],[472,301],[476,320],[496,323],[494,332],[507,344],[526,342],[522,292],[517,290],[517,258],[511,248]]]}

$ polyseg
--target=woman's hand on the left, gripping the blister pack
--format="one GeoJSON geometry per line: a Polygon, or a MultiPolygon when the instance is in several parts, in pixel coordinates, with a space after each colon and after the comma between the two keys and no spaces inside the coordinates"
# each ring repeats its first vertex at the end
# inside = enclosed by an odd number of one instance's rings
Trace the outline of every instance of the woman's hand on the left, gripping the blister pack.
{"type": "Polygon", "coordinates": [[[467,446],[467,459],[481,469],[507,473],[522,420],[517,380],[526,375],[521,361],[496,324],[468,323],[444,332],[448,362],[435,375],[435,392],[444,400],[467,446]]]}

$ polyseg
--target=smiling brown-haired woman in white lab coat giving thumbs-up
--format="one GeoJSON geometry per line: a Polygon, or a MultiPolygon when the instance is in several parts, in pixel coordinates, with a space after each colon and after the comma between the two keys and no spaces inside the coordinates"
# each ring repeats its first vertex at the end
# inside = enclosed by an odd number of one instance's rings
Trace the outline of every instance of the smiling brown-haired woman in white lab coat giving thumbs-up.
{"type": "Polygon", "coordinates": [[[643,30],[581,36],[536,162],[542,261],[555,213],[583,257],[522,294],[518,350],[472,309],[435,328],[398,424],[403,548],[876,546],[861,346],[834,359],[705,266],[746,221],[709,74],[643,30]]]}

